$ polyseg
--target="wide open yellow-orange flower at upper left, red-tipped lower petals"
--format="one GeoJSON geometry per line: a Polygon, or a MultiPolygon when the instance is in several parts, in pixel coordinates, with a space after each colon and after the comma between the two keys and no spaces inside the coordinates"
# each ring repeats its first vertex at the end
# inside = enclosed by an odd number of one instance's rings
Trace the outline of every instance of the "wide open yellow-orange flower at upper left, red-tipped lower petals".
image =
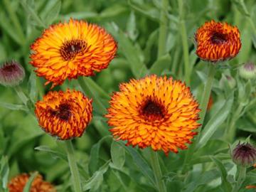
{"type": "Polygon", "coordinates": [[[107,68],[117,43],[104,28],[85,21],[58,23],[31,45],[31,64],[47,82],[61,85],[65,79],[94,75],[107,68]]]}

